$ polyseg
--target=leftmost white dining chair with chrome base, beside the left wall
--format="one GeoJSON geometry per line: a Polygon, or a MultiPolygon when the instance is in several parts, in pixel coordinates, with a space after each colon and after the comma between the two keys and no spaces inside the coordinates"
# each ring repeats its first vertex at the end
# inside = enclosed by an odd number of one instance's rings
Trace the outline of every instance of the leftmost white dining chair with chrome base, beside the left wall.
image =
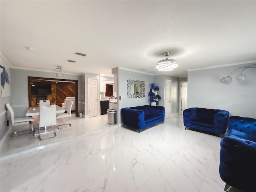
{"type": "Polygon", "coordinates": [[[33,121],[34,119],[32,117],[22,117],[22,118],[15,118],[14,112],[12,110],[12,107],[9,103],[5,104],[6,108],[8,109],[10,116],[11,116],[11,122],[12,125],[15,123],[21,123],[21,122],[31,122],[31,127],[28,130],[22,130],[22,131],[16,131],[11,134],[12,137],[22,135],[22,134],[33,134],[33,121]]]}

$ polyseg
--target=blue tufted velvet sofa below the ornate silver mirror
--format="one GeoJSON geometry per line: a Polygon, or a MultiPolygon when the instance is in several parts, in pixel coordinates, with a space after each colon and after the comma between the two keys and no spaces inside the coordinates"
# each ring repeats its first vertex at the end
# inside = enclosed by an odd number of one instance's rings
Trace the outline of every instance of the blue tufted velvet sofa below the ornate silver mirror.
{"type": "Polygon", "coordinates": [[[125,125],[138,128],[139,131],[158,122],[164,123],[164,107],[136,106],[121,109],[122,120],[125,125]]]}

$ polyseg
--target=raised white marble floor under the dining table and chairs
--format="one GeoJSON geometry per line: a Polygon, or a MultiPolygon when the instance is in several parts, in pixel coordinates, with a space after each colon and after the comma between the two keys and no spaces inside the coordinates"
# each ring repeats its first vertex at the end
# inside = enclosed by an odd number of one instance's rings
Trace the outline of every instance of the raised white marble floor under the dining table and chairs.
{"type": "MultiPolygon", "coordinates": [[[[58,121],[59,125],[62,124],[72,124],[69,128],[64,128],[56,131],[56,138],[48,140],[39,140],[38,139],[38,116],[33,116],[34,118],[34,135],[24,134],[15,137],[7,137],[4,144],[1,146],[0,151],[0,160],[12,158],[14,156],[20,156],[28,152],[35,150],[40,150],[49,146],[54,146],[62,144],[63,142],[76,140],[84,136],[96,134],[102,131],[111,130],[117,128],[117,125],[107,124],[107,114],[101,115],[92,118],[80,118],[76,117],[75,114],[72,114],[71,118],[60,118],[58,121]]],[[[61,126],[60,126],[61,127],[61,126]]],[[[28,125],[15,126],[13,129],[16,130],[26,130],[28,125]]],[[[54,126],[48,127],[48,132],[54,130],[54,126]]],[[[43,133],[44,129],[40,129],[40,133],[43,133]]],[[[48,136],[53,136],[54,134],[48,134],[48,136]]],[[[40,134],[41,138],[45,138],[43,134],[40,134]]]]}

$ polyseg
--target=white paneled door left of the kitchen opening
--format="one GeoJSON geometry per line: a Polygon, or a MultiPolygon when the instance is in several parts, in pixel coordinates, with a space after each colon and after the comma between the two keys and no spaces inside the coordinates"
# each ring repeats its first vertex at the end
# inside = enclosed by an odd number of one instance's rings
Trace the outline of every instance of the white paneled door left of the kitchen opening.
{"type": "Polygon", "coordinates": [[[88,79],[89,117],[98,116],[98,79],[88,79]]]}

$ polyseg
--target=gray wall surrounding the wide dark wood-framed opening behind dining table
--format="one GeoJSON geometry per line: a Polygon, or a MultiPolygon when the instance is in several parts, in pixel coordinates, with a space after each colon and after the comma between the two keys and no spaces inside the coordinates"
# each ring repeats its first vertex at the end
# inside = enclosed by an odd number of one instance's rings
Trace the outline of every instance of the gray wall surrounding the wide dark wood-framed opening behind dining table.
{"type": "MultiPolygon", "coordinates": [[[[26,116],[28,110],[28,76],[31,77],[44,77],[44,78],[57,78],[53,72],[40,72],[32,70],[22,70],[11,68],[12,84],[11,84],[11,100],[14,115],[16,118],[26,116]]],[[[62,78],[57,79],[68,79],[78,80],[78,102],[80,100],[80,76],[66,74],[62,78]]],[[[80,111],[78,109],[78,111],[80,111]]]]}

